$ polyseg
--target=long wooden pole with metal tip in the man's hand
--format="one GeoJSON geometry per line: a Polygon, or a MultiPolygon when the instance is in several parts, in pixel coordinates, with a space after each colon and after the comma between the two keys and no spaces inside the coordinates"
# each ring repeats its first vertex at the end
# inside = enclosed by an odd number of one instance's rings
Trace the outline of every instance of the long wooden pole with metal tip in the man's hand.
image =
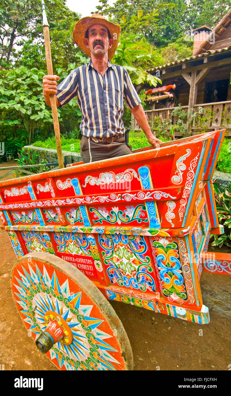
{"type": "MultiPolygon", "coordinates": [[[[45,5],[44,5],[43,0],[42,0],[42,13],[43,13],[43,33],[44,33],[44,42],[45,42],[47,72],[48,72],[48,74],[53,75],[49,25],[48,25],[48,21],[46,18],[46,11],[45,11],[45,5]]],[[[53,124],[54,124],[54,131],[55,131],[55,141],[56,141],[56,148],[57,148],[58,163],[59,163],[59,169],[61,169],[61,168],[64,168],[64,164],[63,164],[63,154],[62,154],[60,130],[59,130],[59,118],[58,118],[58,111],[57,111],[54,94],[50,95],[50,102],[52,105],[52,116],[53,116],[53,124]]]]}

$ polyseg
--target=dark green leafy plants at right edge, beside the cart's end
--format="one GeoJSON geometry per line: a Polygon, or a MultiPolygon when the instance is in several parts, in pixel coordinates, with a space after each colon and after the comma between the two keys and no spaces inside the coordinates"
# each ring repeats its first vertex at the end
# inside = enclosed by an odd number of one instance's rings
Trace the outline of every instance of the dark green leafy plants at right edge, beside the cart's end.
{"type": "Polygon", "coordinates": [[[229,187],[222,191],[218,185],[214,183],[214,195],[216,200],[216,208],[218,212],[219,223],[224,226],[225,233],[221,235],[212,235],[212,246],[221,247],[223,244],[231,247],[231,183],[229,187]]]}

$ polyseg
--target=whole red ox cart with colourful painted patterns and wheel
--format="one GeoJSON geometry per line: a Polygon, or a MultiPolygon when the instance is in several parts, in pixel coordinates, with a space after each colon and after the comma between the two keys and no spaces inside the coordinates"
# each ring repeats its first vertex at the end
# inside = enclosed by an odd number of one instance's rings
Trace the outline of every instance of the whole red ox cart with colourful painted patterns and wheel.
{"type": "Polygon", "coordinates": [[[11,287],[36,345],[64,370],[132,369],[107,300],[199,324],[207,253],[220,234],[212,175],[225,131],[0,183],[0,216],[18,261],[11,287]],[[204,257],[204,259],[203,259],[204,257]]]}

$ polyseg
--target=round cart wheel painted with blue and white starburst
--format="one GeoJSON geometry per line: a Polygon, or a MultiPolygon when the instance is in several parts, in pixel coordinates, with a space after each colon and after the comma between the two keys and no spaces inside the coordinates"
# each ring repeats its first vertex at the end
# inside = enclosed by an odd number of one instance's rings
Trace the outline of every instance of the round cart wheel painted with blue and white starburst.
{"type": "Polygon", "coordinates": [[[67,261],[29,253],[11,271],[16,307],[38,349],[61,370],[132,370],[130,342],[97,287],[67,261]]]}

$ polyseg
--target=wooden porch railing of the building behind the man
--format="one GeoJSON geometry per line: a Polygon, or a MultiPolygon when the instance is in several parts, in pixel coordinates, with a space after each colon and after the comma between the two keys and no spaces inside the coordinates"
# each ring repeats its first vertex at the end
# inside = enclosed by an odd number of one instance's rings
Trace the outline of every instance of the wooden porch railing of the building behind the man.
{"type": "MultiPolygon", "coordinates": [[[[197,118],[193,120],[193,133],[197,133],[204,129],[204,127],[208,126],[208,131],[211,131],[212,129],[218,130],[220,128],[225,128],[227,129],[227,134],[231,136],[231,101],[194,105],[194,112],[197,112],[199,107],[203,108],[202,113],[200,113],[200,117],[205,117],[206,120],[204,120],[200,125],[197,122],[197,118]],[[206,112],[207,109],[208,111],[206,112]]],[[[176,108],[177,107],[166,107],[164,109],[145,110],[145,114],[151,128],[155,117],[161,117],[162,120],[169,120],[167,129],[170,129],[171,124],[175,126],[178,121],[178,117],[172,116],[172,111],[176,108]]],[[[188,106],[181,106],[181,109],[188,111],[188,106]]],[[[133,116],[132,128],[135,130],[140,129],[133,116]]],[[[176,131],[175,135],[179,135],[179,132],[176,131]]]]}

